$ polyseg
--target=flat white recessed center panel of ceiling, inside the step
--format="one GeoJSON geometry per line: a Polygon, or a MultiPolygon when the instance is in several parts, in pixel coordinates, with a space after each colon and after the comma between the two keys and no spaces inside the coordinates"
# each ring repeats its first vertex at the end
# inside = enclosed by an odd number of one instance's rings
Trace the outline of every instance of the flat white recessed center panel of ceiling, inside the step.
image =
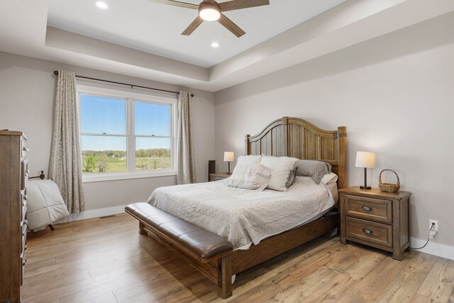
{"type": "MultiPolygon", "coordinates": [[[[199,4],[199,1],[185,0],[199,4]]],[[[345,0],[271,0],[269,6],[228,11],[246,32],[236,38],[217,22],[204,22],[190,36],[180,35],[197,11],[147,0],[50,0],[48,25],[202,67],[211,67],[272,38],[345,0]],[[218,42],[219,48],[211,48],[218,42]]],[[[220,1],[223,2],[223,1],[220,1]]]]}

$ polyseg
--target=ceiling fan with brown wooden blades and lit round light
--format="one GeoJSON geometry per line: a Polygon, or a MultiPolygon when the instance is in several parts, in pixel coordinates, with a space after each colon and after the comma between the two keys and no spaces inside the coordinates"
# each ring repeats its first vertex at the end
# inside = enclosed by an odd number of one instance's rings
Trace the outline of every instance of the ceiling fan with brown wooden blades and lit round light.
{"type": "Polygon", "coordinates": [[[204,21],[218,21],[233,35],[240,38],[245,34],[239,26],[223,14],[224,11],[234,11],[236,9],[248,9],[255,6],[269,5],[270,0],[233,0],[218,3],[214,0],[203,0],[200,4],[191,4],[175,0],[148,0],[150,2],[180,6],[187,9],[196,9],[199,16],[183,31],[182,35],[191,35],[204,21]]]}

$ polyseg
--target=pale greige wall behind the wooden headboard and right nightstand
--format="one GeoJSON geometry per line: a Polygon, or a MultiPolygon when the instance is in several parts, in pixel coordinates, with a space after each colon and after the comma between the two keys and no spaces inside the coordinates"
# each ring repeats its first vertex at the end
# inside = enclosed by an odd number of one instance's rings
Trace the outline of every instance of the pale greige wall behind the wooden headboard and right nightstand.
{"type": "Polygon", "coordinates": [[[426,239],[428,219],[438,219],[434,242],[454,246],[453,98],[450,13],[216,92],[216,160],[226,171],[224,150],[242,154],[246,133],[282,116],[347,126],[349,184],[362,182],[356,151],[375,151],[372,185],[391,168],[412,192],[411,236],[426,239]]]}

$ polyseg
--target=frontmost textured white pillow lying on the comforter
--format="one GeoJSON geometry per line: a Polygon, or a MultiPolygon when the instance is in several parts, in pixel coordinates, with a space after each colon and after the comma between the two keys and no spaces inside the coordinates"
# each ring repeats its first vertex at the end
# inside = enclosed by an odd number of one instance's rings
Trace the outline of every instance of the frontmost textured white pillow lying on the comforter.
{"type": "Polygon", "coordinates": [[[262,191],[267,187],[272,170],[261,164],[236,165],[231,177],[226,179],[229,187],[262,191]]]}

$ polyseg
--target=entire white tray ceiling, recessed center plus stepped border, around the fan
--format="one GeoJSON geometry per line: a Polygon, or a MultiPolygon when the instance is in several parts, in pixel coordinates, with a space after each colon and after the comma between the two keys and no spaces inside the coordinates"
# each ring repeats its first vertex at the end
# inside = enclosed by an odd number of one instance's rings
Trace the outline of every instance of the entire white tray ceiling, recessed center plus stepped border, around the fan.
{"type": "Polygon", "coordinates": [[[216,92],[454,11],[452,0],[270,0],[226,12],[242,38],[217,23],[186,37],[194,10],[104,1],[1,0],[0,52],[216,92]]]}

